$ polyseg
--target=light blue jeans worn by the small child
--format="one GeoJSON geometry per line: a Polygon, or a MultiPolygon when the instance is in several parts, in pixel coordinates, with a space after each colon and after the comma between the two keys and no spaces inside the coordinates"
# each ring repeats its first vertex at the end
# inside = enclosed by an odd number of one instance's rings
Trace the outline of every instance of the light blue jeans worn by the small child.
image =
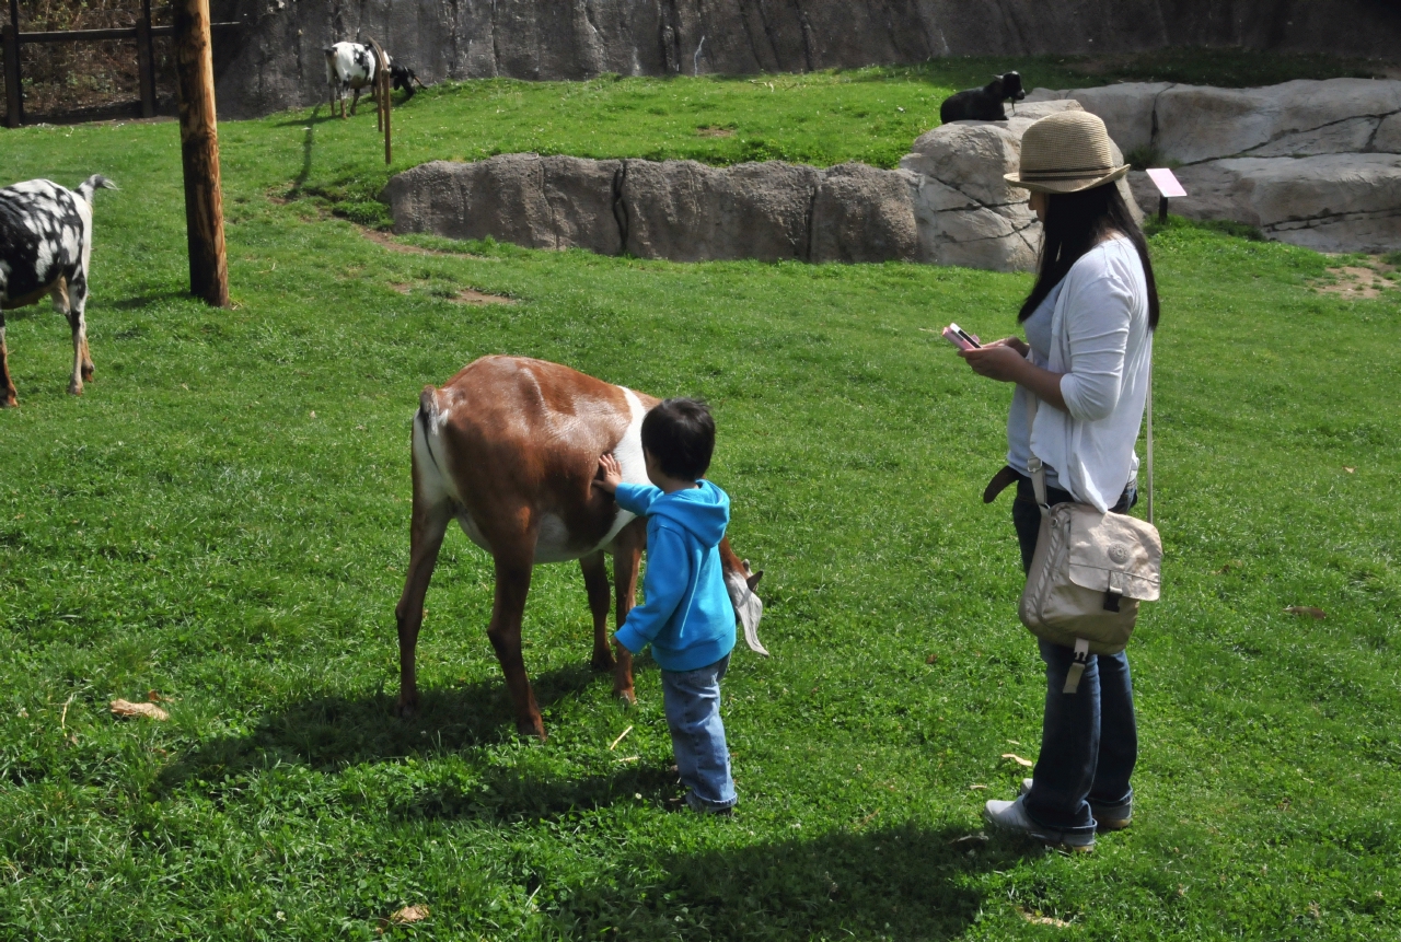
{"type": "Polygon", "coordinates": [[[720,677],[730,655],[698,670],[663,670],[661,701],[671,729],[681,784],[689,788],[686,803],[717,812],[738,802],[730,778],[730,750],[720,721],[720,677]]]}

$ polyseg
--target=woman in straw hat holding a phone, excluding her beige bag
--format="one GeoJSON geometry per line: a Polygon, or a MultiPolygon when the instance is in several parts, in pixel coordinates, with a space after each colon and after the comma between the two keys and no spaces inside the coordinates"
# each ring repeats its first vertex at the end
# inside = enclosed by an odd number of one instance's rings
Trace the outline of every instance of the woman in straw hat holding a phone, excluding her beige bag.
{"type": "MultiPolygon", "coordinates": [[[[1114,185],[1104,122],[1061,112],[1027,129],[1021,165],[1007,182],[1031,190],[1045,235],[1035,287],[1007,337],[962,351],[974,372],[1016,384],[1007,417],[1007,466],[1017,481],[1012,519],[1023,570],[1031,567],[1041,511],[1028,459],[1047,472],[1049,504],[1076,501],[1126,512],[1138,500],[1139,424],[1147,395],[1157,288],[1147,242],[1114,185]],[[1033,398],[1038,402],[1028,428],[1033,398]]],[[[995,484],[989,486],[995,494],[995,484]]],[[[1002,484],[1006,486],[1006,484],[1002,484]]],[[[991,495],[985,500],[992,500],[991,495]]],[[[991,801],[989,824],[1047,844],[1091,850],[1096,827],[1126,827],[1138,757],[1133,689],[1124,654],[1090,656],[1076,693],[1062,693],[1073,651],[1041,641],[1047,707],[1035,774],[1012,802],[991,801]]]]}

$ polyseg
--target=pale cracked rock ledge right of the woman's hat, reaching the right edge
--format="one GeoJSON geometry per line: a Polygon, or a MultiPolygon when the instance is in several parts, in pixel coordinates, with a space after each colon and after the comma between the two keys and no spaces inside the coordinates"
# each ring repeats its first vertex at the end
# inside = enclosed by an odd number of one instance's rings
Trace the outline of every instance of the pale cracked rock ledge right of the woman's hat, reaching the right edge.
{"type": "MultiPolygon", "coordinates": [[[[1125,150],[1174,165],[1187,189],[1171,203],[1180,216],[1245,223],[1323,252],[1401,246],[1401,81],[1038,88],[1027,101],[1076,101],[1125,150]]],[[[1157,203],[1146,175],[1131,185],[1140,203],[1157,203]]]]}

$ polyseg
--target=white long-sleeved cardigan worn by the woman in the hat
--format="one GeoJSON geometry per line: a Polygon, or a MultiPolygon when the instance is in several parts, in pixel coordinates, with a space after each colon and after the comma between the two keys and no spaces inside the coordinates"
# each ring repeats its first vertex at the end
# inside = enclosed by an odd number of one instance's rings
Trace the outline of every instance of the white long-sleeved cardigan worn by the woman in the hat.
{"type": "Polygon", "coordinates": [[[1153,333],[1147,279],[1133,242],[1119,237],[1086,252],[1065,276],[1051,321],[1051,360],[1069,412],[1042,403],[1031,451],[1056,469],[1077,501],[1108,511],[1138,477],[1139,427],[1153,333]]]}

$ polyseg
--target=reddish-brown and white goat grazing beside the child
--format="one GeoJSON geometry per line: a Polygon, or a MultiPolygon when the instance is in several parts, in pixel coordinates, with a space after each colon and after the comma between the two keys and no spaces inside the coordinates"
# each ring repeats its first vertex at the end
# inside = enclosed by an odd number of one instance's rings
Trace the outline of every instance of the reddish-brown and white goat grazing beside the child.
{"type": "MultiPolygon", "coordinates": [[[[518,357],[483,357],[441,389],[427,386],[413,419],[413,523],[409,571],[395,607],[399,626],[399,712],[419,703],[413,652],[423,598],[448,523],[496,564],[496,598],[486,634],[496,649],[516,708],[516,728],[545,738],[521,658],[521,616],[537,563],[579,560],[594,617],[595,670],[614,669],[614,694],[633,700],[632,655],[608,649],[608,570],[614,557],[616,620],[622,624],[637,588],[647,543],[646,519],[621,509],[593,483],[598,456],[612,452],[623,480],[647,483],[642,419],[657,405],[622,386],[569,367],[518,357]]],[[[764,603],[754,595],[762,572],[720,543],[730,602],[745,640],[761,654],[764,603]]]]}

